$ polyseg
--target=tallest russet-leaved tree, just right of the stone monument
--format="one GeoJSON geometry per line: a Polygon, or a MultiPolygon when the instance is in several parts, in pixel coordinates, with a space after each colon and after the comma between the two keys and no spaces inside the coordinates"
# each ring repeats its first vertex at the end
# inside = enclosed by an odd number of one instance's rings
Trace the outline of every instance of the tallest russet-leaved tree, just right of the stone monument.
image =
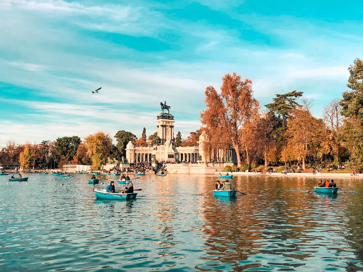
{"type": "Polygon", "coordinates": [[[236,73],[222,78],[221,93],[209,86],[205,88],[206,110],[201,111],[201,123],[208,128],[211,137],[221,137],[226,148],[233,147],[237,155],[237,167],[241,166],[241,128],[245,121],[258,112],[260,103],[253,98],[252,81],[236,73]],[[223,133],[221,133],[223,132],[223,133]]]}

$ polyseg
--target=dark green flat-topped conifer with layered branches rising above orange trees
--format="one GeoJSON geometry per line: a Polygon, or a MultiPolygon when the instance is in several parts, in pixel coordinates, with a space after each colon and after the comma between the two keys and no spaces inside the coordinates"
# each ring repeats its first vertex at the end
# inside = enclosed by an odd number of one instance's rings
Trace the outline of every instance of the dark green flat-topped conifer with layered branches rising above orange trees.
{"type": "Polygon", "coordinates": [[[301,97],[303,92],[292,91],[287,94],[275,94],[273,103],[265,105],[268,109],[282,116],[282,127],[286,127],[286,116],[290,110],[300,106],[295,100],[301,97]]]}

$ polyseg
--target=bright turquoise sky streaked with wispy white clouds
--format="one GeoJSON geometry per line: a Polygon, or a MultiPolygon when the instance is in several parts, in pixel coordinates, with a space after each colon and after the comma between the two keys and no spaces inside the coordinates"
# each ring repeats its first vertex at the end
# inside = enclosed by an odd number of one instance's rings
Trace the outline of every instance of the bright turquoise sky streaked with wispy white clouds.
{"type": "Polygon", "coordinates": [[[185,139],[207,86],[237,72],[261,105],[298,90],[323,106],[363,58],[363,1],[0,1],[0,146],[98,130],[185,139]],[[102,87],[97,94],[91,91],[102,87]]]}

